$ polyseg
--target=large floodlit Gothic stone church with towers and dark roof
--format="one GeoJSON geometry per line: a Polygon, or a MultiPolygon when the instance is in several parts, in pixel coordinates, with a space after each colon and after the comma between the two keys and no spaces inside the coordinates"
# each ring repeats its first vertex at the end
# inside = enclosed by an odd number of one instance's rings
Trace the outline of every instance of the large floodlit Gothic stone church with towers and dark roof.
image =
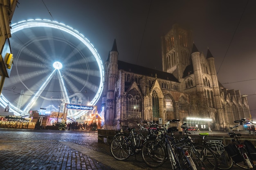
{"type": "Polygon", "coordinates": [[[106,129],[180,119],[198,130],[224,130],[234,120],[250,118],[247,97],[218,82],[213,55],[209,49],[206,56],[198,51],[191,31],[174,24],[161,41],[159,71],[119,61],[114,40],[105,62],[106,129]]]}

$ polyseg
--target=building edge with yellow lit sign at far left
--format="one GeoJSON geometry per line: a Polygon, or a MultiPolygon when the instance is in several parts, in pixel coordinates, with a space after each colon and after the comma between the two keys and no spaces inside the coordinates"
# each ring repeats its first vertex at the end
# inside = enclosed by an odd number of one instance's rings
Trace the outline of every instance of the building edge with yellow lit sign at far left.
{"type": "Polygon", "coordinates": [[[11,37],[11,18],[18,0],[0,0],[0,94],[5,77],[11,73],[13,56],[9,38],[11,37]]]}

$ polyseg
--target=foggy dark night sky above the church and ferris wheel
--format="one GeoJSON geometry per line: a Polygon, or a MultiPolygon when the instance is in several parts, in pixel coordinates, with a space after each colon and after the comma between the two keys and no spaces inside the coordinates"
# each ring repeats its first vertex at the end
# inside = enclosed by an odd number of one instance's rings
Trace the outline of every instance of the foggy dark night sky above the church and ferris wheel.
{"type": "Polygon", "coordinates": [[[162,70],[160,37],[180,24],[192,30],[200,52],[209,47],[220,83],[248,95],[254,118],[255,7],[254,0],[19,0],[12,23],[48,19],[71,26],[103,63],[116,39],[119,60],[156,70],[162,70]]]}

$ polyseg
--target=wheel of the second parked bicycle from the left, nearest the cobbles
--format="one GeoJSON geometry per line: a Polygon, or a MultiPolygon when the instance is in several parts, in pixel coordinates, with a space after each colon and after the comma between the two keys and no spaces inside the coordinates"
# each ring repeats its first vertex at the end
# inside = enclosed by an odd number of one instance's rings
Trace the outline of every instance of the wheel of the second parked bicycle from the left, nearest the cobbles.
{"type": "Polygon", "coordinates": [[[150,167],[157,168],[166,160],[165,147],[158,141],[147,140],[141,149],[143,161],[150,167]]]}

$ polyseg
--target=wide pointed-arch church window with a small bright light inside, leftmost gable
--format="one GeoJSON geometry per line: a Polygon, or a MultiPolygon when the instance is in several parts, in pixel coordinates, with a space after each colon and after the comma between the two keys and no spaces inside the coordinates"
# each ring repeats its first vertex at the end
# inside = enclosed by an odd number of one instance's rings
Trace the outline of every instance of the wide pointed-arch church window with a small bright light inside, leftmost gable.
{"type": "Polygon", "coordinates": [[[127,94],[126,98],[126,111],[128,111],[128,115],[132,118],[141,118],[141,108],[142,102],[141,97],[137,90],[132,89],[127,94]]]}

